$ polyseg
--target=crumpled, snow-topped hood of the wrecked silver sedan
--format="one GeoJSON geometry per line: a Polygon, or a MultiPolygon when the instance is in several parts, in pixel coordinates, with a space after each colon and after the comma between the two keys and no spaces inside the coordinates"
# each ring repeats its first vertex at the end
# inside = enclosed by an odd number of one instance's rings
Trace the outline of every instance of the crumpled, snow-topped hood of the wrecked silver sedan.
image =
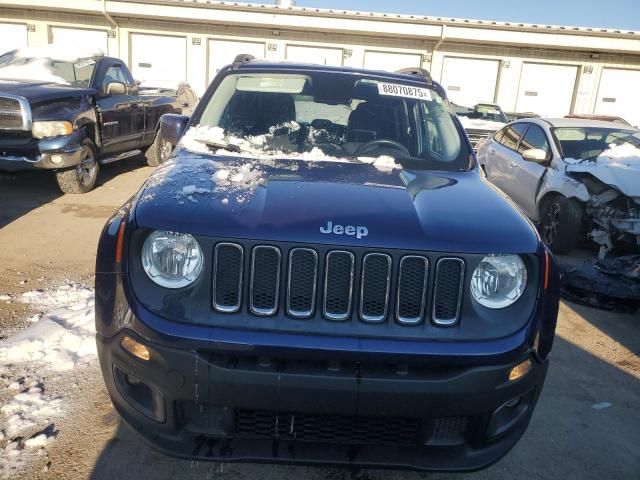
{"type": "Polygon", "coordinates": [[[590,173],[628,197],[640,197],[640,148],[630,143],[610,145],[593,161],[565,161],[567,172],[590,173]]]}

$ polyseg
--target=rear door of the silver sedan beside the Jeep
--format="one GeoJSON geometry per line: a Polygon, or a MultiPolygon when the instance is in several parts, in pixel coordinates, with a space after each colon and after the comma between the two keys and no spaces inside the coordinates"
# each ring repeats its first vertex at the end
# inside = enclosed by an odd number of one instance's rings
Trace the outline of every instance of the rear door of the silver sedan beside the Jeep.
{"type": "Polygon", "coordinates": [[[514,178],[518,161],[518,143],[529,124],[514,123],[502,130],[502,135],[494,136],[486,145],[485,171],[487,178],[496,187],[513,198],[514,178]],[[499,141],[497,141],[499,139],[499,141]]]}

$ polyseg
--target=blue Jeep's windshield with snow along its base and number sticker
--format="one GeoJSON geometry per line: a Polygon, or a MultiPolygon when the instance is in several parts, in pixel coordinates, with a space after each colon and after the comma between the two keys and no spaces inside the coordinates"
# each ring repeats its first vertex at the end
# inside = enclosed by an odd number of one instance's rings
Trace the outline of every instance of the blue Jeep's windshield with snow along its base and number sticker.
{"type": "Polygon", "coordinates": [[[182,146],[258,158],[466,170],[470,155],[435,90],[344,73],[227,75],[182,146]]]}

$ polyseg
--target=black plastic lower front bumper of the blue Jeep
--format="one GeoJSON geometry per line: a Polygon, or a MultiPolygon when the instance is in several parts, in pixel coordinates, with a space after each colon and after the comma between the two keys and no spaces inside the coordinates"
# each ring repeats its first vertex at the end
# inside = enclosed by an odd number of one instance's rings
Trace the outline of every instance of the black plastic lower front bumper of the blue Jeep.
{"type": "Polygon", "coordinates": [[[219,342],[168,347],[128,330],[97,343],[127,423],[169,455],[224,462],[481,469],[526,430],[548,365],[529,354],[468,367],[265,357],[219,342]],[[126,352],[125,335],[150,360],[126,352]],[[508,381],[526,358],[532,370],[508,381]]]}

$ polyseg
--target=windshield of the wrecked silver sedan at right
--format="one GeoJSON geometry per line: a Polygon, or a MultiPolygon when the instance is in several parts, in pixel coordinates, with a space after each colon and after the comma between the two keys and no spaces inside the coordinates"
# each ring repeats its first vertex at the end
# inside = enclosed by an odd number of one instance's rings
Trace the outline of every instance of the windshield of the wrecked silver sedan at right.
{"type": "Polygon", "coordinates": [[[637,130],[571,127],[555,128],[553,133],[560,146],[562,157],[567,160],[595,160],[615,147],[640,148],[640,132],[637,130]]]}

